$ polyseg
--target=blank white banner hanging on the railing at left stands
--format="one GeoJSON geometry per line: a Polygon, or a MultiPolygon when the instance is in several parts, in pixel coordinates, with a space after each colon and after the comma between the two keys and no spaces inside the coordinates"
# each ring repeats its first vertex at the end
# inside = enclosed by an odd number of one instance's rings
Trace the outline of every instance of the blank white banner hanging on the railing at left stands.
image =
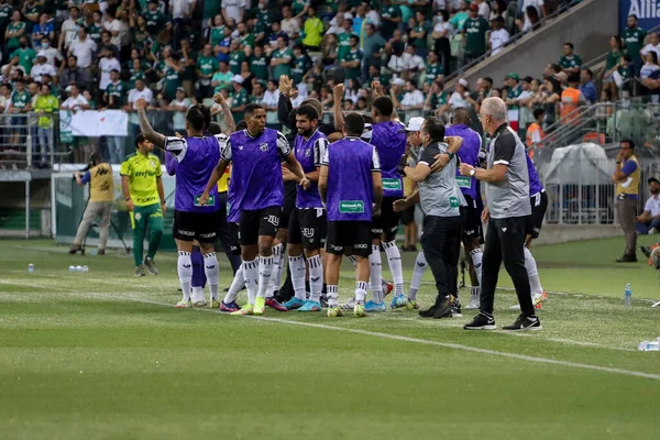
{"type": "Polygon", "coordinates": [[[59,111],[59,130],[73,136],[128,136],[129,114],[121,110],[59,111]]]}

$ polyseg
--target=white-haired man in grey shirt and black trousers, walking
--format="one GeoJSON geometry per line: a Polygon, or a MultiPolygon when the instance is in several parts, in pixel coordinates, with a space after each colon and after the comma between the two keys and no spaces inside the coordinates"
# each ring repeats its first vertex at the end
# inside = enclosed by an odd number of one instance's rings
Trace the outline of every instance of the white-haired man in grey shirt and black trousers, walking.
{"type": "Polygon", "coordinates": [[[493,304],[499,266],[504,261],[520,304],[521,314],[504,330],[540,330],[536,316],[529,277],[525,268],[525,233],[531,215],[529,175],[525,144],[506,121],[506,105],[499,98],[484,100],[479,118],[491,138],[487,169],[461,164],[461,175],[485,184],[488,206],[482,221],[488,222],[482,268],[480,314],[464,326],[465,330],[494,330],[493,304]]]}

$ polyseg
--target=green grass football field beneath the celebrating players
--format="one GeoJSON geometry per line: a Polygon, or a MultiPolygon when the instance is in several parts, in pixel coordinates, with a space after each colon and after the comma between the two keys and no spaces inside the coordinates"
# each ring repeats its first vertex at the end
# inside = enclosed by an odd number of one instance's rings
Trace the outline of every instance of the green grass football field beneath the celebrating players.
{"type": "MultiPolygon", "coordinates": [[[[614,263],[623,238],[536,249],[554,294],[543,330],[515,336],[462,330],[465,310],[442,320],[177,310],[173,254],[156,257],[160,276],[135,279],[125,255],[1,244],[0,438],[642,439],[660,429],[660,353],[637,351],[660,336],[649,301],[660,285],[644,262],[614,263]]],[[[414,258],[404,254],[406,283],[414,258]]],[[[430,282],[428,272],[425,306],[430,282]]],[[[501,284],[510,286],[504,272],[501,284]]],[[[498,292],[498,327],[515,320],[514,302],[498,292]]]]}

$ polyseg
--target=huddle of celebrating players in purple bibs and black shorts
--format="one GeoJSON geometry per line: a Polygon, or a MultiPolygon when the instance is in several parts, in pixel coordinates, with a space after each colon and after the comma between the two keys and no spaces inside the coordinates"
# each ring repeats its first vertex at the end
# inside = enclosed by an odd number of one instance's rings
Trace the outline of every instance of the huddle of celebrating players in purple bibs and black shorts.
{"type": "MultiPolygon", "coordinates": [[[[413,118],[404,125],[392,100],[378,96],[371,118],[351,113],[328,125],[320,122],[320,102],[315,101],[305,101],[292,111],[297,133],[293,147],[279,131],[266,128],[266,112],[258,105],[246,106],[244,121],[235,129],[231,121],[231,132],[227,134],[210,123],[208,108],[194,106],[186,114],[187,135],[168,138],[151,128],[145,102],[136,103],[142,134],[170,154],[167,169],[176,176],[174,238],[183,292],[176,307],[208,305],[232,315],[263,315],[266,307],[307,312],[327,307],[329,317],[342,316],[343,310],[350,309],[354,316],[363,317],[370,311],[385,311],[385,296],[394,290],[392,308],[418,309],[417,292],[426,267],[430,266],[438,296],[436,304],[419,315],[460,317],[458,264],[462,242],[473,286],[466,308],[479,309],[482,217],[488,218],[487,209],[482,216],[475,169],[493,152],[482,148],[481,136],[469,128],[468,111],[458,110],[447,131],[436,118],[413,118]],[[404,177],[417,186],[407,198],[404,177]],[[222,188],[227,190],[219,191],[219,185],[227,186],[222,188]],[[396,233],[400,212],[416,205],[425,215],[422,251],[406,295],[396,233]],[[220,237],[221,241],[229,241],[223,243],[227,252],[241,258],[223,300],[218,296],[213,245],[219,238],[218,224],[228,231],[224,238],[220,237]],[[294,295],[280,302],[275,295],[284,272],[285,246],[294,295]],[[387,256],[393,283],[383,278],[382,251],[387,256]],[[201,265],[194,265],[196,254],[201,265]],[[339,278],[344,255],[355,268],[355,289],[352,297],[340,304],[339,278]],[[195,267],[209,286],[209,302],[199,274],[194,274],[195,267]],[[240,307],[237,297],[243,288],[248,302],[240,307]]],[[[532,212],[522,213],[529,278],[526,292],[530,293],[525,301],[519,299],[525,317],[536,319],[534,308],[530,312],[526,305],[531,301],[540,308],[544,292],[529,244],[538,237],[547,196],[534,165],[526,154],[525,157],[529,173],[525,176],[529,188],[526,200],[531,199],[527,208],[532,212]]],[[[507,161],[498,162],[508,165],[507,161]]],[[[485,315],[488,316],[487,310],[485,315]]],[[[540,328],[540,322],[535,322],[538,326],[532,327],[540,328]]]]}

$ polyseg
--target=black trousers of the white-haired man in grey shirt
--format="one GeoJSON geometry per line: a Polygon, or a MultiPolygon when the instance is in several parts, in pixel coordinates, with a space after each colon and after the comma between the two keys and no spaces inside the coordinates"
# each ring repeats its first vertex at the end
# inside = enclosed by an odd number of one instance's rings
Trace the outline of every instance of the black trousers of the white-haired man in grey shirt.
{"type": "Polygon", "coordinates": [[[504,261],[504,267],[514,282],[522,315],[535,316],[529,278],[525,268],[526,227],[527,217],[491,219],[488,221],[488,232],[486,233],[486,244],[482,261],[480,310],[484,314],[493,314],[499,266],[504,261]]]}

